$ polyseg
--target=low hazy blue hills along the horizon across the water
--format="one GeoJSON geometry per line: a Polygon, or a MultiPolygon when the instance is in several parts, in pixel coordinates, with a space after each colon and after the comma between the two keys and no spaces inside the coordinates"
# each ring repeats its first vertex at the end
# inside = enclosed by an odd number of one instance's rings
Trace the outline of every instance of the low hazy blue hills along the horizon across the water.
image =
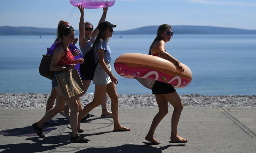
{"type": "MultiPolygon", "coordinates": [[[[156,34],[158,25],[135,28],[125,31],[115,31],[114,34],[156,34]]],[[[175,34],[256,34],[256,30],[245,30],[237,28],[222,28],[212,26],[190,26],[173,25],[175,34]]],[[[56,35],[55,28],[35,28],[35,27],[11,27],[1,26],[0,35],[56,35]]],[[[75,30],[75,33],[79,33],[75,30]]]]}

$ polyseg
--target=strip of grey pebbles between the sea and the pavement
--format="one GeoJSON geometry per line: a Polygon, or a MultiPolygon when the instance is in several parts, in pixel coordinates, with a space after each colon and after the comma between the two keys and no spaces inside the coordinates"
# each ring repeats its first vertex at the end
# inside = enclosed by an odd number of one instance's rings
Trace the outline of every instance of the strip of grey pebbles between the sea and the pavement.
{"type": "MultiPolygon", "coordinates": [[[[45,108],[50,94],[0,93],[0,108],[45,108]]],[[[93,100],[94,94],[80,97],[83,107],[93,100]]],[[[199,94],[182,94],[184,107],[215,107],[215,106],[256,106],[255,95],[204,96],[199,94]]],[[[119,94],[119,108],[154,108],[157,103],[153,94],[119,94]]],[[[111,101],[107,99],[108,108],[111,101]]],[[[169,106],[170,103],[168,104],[169,106]]],[[[98,106],[101,108],[101,106],[98,106]]]]}

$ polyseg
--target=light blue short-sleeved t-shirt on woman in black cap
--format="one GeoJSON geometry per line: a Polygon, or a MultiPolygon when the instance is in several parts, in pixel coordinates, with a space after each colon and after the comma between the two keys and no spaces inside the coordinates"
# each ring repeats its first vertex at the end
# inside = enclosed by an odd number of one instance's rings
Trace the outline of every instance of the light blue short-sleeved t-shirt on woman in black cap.
{"type": "Polygon", "coordinates": [[[97,61],[99,60],[98,49],[104,49],[104,61],[107,63],[111,62],[111,51],[106,41],[100,41],[97,48],[95,49],[97,49],[94,51],[95,63],[97,63],[97,61]]]}

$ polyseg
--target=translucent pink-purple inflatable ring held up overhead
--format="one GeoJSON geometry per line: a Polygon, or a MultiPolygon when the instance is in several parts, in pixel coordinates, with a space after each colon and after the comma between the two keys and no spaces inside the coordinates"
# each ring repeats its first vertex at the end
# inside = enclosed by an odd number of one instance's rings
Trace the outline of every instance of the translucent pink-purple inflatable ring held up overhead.
{"type": "Polygon", "coordinates": [[[77,7],[81,5],[84,8],[109,8],[114,5],[114,1],[97,1],[97,0],[70,0],[70,3],[77,7]]]}

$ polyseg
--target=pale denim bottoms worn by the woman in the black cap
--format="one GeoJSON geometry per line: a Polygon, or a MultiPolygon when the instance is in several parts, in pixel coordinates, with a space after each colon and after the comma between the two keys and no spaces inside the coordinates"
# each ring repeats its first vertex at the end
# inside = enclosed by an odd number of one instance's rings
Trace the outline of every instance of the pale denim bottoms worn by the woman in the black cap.
{"type": "MultiPolygon", "coordinates": [[[[110,63],[106,63],[106,64],[107,64],[107,67],[109,68],[109,70],[111,71],[110,63]]],[[[111,83],[111,79],[109,77],[109,74],[107,74],[105,72],[105,70],[101,67],[100,63],[98,63],[98,65],[95,69],[95,72],[94,72],[94,76],[93,76],[93,84],[107,85],[109,83],[111,83]]]]}

